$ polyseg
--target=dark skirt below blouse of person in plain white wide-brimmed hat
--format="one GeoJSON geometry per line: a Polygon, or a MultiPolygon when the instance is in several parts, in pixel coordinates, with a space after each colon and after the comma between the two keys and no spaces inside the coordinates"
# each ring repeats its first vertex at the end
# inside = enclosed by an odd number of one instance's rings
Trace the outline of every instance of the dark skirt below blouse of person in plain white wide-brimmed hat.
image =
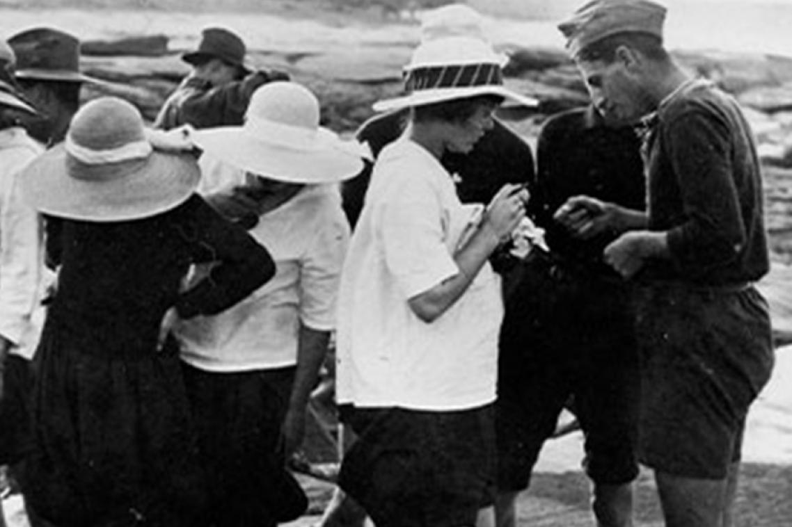
{"type": "Polygon", "coordinates": [[[306,496],[279,451],[295,368],[183,370],[201,461],[212,478],[210,523],[275,525],[303,514],[306,496]]]}

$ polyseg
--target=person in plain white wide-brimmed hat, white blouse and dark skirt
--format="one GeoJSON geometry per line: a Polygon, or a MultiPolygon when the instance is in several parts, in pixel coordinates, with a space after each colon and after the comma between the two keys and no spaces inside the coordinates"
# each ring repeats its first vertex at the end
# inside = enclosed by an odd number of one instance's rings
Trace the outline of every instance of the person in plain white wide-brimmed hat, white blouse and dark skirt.
{"type": "Polygon", "coordinates": [[[238,305],[177,330],[217,478],[212,518],[222,525],[272,525],[302,512],[268,499],[266,463],[283,466],[303,442],[349,237],[337,183],[363,167],[358,149],[320,127],[319,116],[309,89],[271,82],[253,93],[242,126],[191,134],[203,150],[206,199],[247,226],[276,263],[275,277],[238,305]]]}

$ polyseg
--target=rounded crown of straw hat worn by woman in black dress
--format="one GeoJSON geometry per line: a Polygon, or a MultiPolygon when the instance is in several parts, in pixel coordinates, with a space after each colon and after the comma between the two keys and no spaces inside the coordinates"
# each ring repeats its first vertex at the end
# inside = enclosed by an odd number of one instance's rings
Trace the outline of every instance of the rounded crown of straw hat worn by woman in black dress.
{"type": "Polygon", "coordinates": [[[68,137],[93,151],[116,150],[145,140],[143,117],[135,106],[118,97],[99,97],[74,114],[68,137]]]}

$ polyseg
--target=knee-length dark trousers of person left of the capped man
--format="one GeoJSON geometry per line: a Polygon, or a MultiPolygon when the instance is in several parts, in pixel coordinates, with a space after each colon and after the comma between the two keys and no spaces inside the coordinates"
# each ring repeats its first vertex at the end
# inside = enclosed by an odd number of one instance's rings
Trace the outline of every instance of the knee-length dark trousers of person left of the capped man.
{"type": "Polygon", "coordinates": [[[527,263],[501,329],[496,430],[501,491],[520,491],[569,401],[596,483],[638,476],[638,351],[630,290],[527,263]]]}

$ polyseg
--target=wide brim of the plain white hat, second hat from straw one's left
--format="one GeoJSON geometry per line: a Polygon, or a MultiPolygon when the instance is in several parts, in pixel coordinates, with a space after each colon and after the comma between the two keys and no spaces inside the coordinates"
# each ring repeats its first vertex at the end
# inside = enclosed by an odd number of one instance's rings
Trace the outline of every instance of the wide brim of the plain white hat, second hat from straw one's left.
{"type": "Polygon", "coordinates": [[[364,167],[360,152],[345,146],[332,131],[320,128],[317,142],[305,148],[266,142],[244,127],[192,132],[204,152],[247,172],[287,183],[322,184],[348,180],[364,167]]]}

